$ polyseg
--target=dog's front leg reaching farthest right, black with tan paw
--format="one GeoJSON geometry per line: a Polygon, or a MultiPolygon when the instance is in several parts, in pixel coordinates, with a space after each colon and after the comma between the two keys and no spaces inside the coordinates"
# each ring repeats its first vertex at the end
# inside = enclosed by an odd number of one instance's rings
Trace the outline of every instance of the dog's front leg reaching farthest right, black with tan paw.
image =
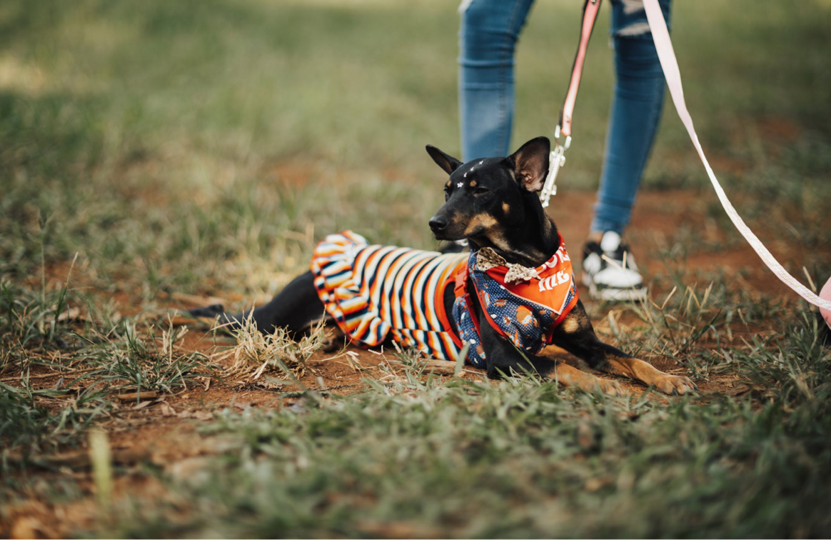
{"type": "Polygon", "coordinates": [[[698,387],[689,377],[666,374],[641,359],[633,358],[622,350],[597,339],[583,303],[578,301],[563,324],[554,331],[554,343],[578,356],[598,371],[624,375],[643,384],[655,385],[664,394],[686,394],[698,387]]]}

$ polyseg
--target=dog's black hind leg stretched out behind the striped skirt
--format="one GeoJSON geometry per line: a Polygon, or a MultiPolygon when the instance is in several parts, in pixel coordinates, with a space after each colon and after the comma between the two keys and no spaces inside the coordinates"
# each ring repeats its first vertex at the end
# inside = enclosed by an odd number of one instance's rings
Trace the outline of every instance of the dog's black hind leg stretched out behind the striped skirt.
{"type": "Polygon", "coordinates": [[[229,315],[224,312],[222,305],[210,305],[188,312],[194,317],[219,316],[220,322],[228,324],[231,329],[240,328],[243,321],[250,317],[263,334],[269,334],[278,327],[287,329],[289,334],[298,334],[326,316],[317,297],[312,272],[298,275],[268,304],[253,310],[229,315]]]}

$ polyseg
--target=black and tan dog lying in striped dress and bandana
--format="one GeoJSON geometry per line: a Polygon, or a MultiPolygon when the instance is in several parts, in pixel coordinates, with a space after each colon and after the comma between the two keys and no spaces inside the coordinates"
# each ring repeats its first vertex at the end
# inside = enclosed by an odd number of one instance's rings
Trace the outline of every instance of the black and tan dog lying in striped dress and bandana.
{"type": "Polygon", "coordinates": [[[470,255],[373,246],[347,231],[317,245],[311,270],[267,305],[236,315],[221,305],[189,313],[237,327],[250,319],[262,332],[283,327],[292,335],[325,319],[368,346],[393,339],[449,360],[467,350],[467,361],[491,378],[531,372],[623,394],[614,380],[538,355],[556,344],[594,370],[665,394],[698,389],[597,338],[563,239],[538,197],[548,174],[548,138],[532,139],[508,157],[467,163],[435,146],[426,150],[449,176],[430,230],[437,240],[467,240],[470,255]]]}

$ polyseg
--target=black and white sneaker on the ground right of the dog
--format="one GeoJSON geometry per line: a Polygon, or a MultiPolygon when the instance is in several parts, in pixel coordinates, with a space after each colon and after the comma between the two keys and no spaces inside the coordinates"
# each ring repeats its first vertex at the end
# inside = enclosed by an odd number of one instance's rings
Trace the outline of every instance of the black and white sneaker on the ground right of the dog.
{"type": "Polygon", "coordinates": [[[583,285],[595,300],[646,300],[647,287],[629,246],[621,235],[607,230],[597,242],[583,247],[583,285]]]}

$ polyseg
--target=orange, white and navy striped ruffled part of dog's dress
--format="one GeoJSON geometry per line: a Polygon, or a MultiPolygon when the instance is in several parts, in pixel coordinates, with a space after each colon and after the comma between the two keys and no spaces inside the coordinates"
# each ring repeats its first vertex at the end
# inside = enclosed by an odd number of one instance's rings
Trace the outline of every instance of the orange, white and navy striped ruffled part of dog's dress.
{"type": "Polygon", "coordinates": [[[347,230],[329,235],[309,265],[327,313],[360,344],[396,343],[426,356],[455,360],[444,292],[466,265],[467,255],[441,255],[392,245],[369,245],[347,230]]]}

